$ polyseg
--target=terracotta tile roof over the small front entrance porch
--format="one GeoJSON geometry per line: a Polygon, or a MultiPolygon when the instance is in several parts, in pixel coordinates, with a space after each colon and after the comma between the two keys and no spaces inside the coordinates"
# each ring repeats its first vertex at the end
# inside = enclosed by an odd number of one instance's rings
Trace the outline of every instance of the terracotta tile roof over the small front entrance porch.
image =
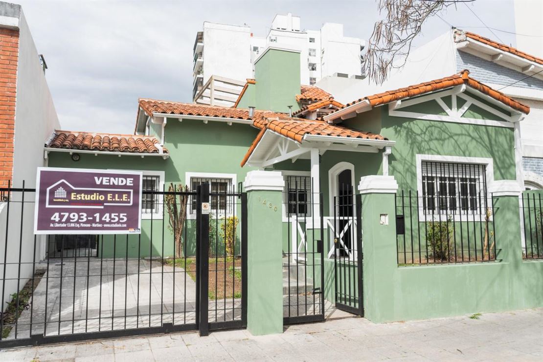
{"type": "Polygon", "coordinates": [[[288,118],[288,117],[276,117],[276,118],[263,118],[261,120],[255,120],[254,125],[261,129],[252,142],[251,147],[243,157],[241,166],[249,160],[252,152],[255,150],[258,142],[264,136],[267,130],[274,131],[280,135],[291,138],[296,142],[301,143],[305,135],[319,135],[319,136],[332,136],[332,137],[348,137],[348,138],[365,138],[365,139],[380,139],[386,140],[381,135],[373,134],[371,132],[364,132],[353,130],[342,125],[333,125],[324,122],[323,120],[310,120],[303,118],[288,118]]]}

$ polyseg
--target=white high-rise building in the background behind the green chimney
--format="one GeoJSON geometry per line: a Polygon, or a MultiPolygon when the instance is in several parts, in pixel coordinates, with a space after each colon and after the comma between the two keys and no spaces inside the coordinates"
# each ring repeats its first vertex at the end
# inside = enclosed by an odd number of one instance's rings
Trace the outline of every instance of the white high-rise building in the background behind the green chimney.
{"type": "Polygon", "coordinates": [[[193,99],[195,103],[231,106],[253,62],[268,47],[300,51],[300,82],[315,84],[337,76],[363,78],[363,40],[343,35],[343,24],[325,23],[319,30],[302,30],[300,17],[275,15],[266,37],[249,26],[204,22],[194,43],[193,99]]]}

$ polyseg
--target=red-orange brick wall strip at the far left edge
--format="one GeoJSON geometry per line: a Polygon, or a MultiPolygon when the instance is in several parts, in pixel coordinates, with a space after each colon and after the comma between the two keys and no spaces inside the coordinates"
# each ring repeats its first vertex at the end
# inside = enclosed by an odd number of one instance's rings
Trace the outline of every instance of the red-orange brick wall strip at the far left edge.
{"type": "Polygon", "coordinates": [[[0,187],[13,177],[18,30],[0,28],[0,187]]]}

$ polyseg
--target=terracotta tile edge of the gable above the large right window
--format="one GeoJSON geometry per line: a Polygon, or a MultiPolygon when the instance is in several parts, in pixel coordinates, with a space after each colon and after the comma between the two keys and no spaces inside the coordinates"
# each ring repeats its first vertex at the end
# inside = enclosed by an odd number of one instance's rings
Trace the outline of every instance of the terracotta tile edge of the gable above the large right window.
{"type": "Polygon", "coordinates": [[[393,101],[416,97],[422,94],[444,90],[446,88],[450,88],[450,87],[454,87],[454,86],[458,86],[462,84],[468,85],[471,88],[474,88],[475,90],[500,101],[504,105],[509,106],[514,110],[517,110],[525,114],[529,113],[530,107],[523,105],[522,103],[514,100],[513,98],[509,98],[508,96],[506,96],[505,94],[501,92],[493,90],[489,86],[484,85],[473,78],[470,78],[469,74],[470,72],[468,70],[464,70],[458,74],[451,75],[450,77],[436,79],[429,82],[424,82],[421,84],[416,84],[413,86],[400,88],[393,91],[377,93],[377,94],[373,94],[372,96],[359,98],[357,100],[352,101],[351,103],[346,104],[344,107],[340,108],[337,111],[332,112],[330,115],[325,116],[324,118],[326,120],[335,119],[337,117],[334,117],[334,113],[337,113],[343,109],[346,109],[350,106],[353,106],[361,102],[365,102],[369,104],[371,107],[376,107],[376,106],[392,103],[393,101]]]}

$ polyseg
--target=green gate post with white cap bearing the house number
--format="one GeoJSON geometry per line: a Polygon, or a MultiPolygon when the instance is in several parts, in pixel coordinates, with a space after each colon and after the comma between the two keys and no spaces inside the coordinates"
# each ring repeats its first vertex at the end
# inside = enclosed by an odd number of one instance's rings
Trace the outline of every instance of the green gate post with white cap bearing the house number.
{"type": "Polygon", "coordinates": [[[281,193],[277,171],[251,171],[247,191],[247,329],[252,335],[283,332],[281,193]]]}

